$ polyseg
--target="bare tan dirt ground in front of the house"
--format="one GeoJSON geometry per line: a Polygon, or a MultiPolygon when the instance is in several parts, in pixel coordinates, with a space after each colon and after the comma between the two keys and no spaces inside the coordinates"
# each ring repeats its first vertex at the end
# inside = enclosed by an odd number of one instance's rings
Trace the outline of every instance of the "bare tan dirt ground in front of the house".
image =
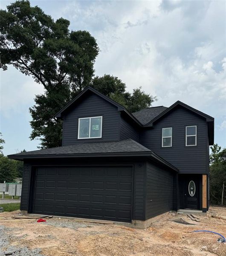
{"type": "MultiPolygon", "coordinates": [[[[0,217],[17,214],[19,211],[3,212],[0,217]]],[[[226,220],[211,215],[226,217],[226,208],[210,207],[209,217],[199,216],[200,222],[191,221],[183,214],[167,213],[146,230],[62,218],[47,219],[45,223],[37,220],[0,222],[0,226],[3,225],[7,230],[5,235],[9,235],[9,244],[3,249],[9,245],[40,248],[44,256],[225,256],[226,243],[217,242],[219,236],[190,233],[211,230],[226,236],[226,220]],[[170,221],[177,217],[196,225],[170,221]]]]}

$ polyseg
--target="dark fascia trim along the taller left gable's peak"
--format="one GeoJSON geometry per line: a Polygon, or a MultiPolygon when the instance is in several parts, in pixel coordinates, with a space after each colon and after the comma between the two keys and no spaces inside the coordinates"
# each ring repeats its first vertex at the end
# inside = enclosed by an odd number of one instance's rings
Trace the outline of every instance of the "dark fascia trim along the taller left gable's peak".
{"type": "Polygon", "coordinates": [[[135,121],[138,125],[143,126],[141,122],[139,122],[138,119],[136,119],[135,116],[133,116],[129,111],[127,111],[126,108],[124,108],[122,105],[120,105],[119,103],[115,102],[114,100],[108,98],[107,96],[103,95],[102,93],[99,93],[99,91],[93,89],[90,86],[87,86],[84,90],[81,91],[81,93],[79,93],[74,99],[72,99],[67,105],[64,106],[64,108],[62,108],[58,113],[56,113],[55,117],[58,119],[62,118],[62,113],[69,108],[76,100],[78,100],[82,95],[84,95],[84,93],[86,93],[87,91],[91,91],[93,93],[96,93],[98,96],[100,96],[101,98],[105,99],[107,102],[110,102],[111,104],[115,105],[118,108],[118,111],[124,111],[125,113],[127,113],[128,116],[130,116],[131,119],[133,119],[133,121],[135,121]]]}

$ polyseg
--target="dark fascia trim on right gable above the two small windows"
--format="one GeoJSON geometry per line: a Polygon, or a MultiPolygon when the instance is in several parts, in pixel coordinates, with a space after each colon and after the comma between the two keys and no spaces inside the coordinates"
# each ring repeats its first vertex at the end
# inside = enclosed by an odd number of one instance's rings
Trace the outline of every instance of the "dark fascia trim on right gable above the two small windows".
{"type": "Polygon", "coordinates": [[[187,104],[180,102],[180,100],[178,100],[177,102],[175,102],[173,105],[171,105],[169,108],[167,108],[165,111],[163,111],[162,113],[160,113],[158,116],[156,116],[154,119],[152,119],[150,122],[148,122],[146,125],[144,125],[145,127],[152,127],[154,122],[156,122],[159,118],[161,118],[162,116],[164,116],[165,114],[167,114],[169,111],[171,111],[173,108],[177,107],[178,105],[206,118],[206,122],[214,122],[214,118],[212,116],[209,116],[195,108],[192,108],[190,106],[188,106],[187,104]]]}

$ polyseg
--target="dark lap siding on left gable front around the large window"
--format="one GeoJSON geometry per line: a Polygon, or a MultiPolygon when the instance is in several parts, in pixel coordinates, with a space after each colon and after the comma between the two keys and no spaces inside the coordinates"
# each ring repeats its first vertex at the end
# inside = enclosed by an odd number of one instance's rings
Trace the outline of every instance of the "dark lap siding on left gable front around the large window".
{"type": "Polygon", "coordinates": [[[62,145],[119,140],[119,111],[116,106],[91,94],[64,116],[62,145]],[[102,117],[102,138],[78,140],[78,118],[102,117]]]}

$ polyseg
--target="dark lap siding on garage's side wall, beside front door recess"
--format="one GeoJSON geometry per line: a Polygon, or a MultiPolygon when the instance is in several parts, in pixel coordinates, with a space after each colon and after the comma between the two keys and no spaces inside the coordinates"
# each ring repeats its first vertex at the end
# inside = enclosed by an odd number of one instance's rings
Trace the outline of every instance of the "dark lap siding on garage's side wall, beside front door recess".
{"type": "Polygon", "coordinates": [[[174,173],[147,163],[145,219],[174,208],[174,173]]]}

